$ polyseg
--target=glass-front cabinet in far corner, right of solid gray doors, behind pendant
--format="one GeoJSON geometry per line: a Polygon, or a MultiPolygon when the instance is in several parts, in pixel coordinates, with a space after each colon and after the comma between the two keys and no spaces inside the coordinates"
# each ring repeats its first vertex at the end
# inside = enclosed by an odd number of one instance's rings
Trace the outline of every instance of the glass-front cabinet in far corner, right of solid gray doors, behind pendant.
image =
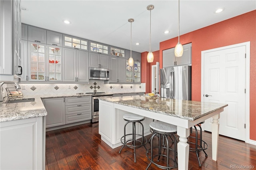
{"type": "Polygon", "coordinates": [[[141,66],[139,61],[134,61],[134,66],[128,65],[126,60],[126,83],[140,83],[141,66]]]}

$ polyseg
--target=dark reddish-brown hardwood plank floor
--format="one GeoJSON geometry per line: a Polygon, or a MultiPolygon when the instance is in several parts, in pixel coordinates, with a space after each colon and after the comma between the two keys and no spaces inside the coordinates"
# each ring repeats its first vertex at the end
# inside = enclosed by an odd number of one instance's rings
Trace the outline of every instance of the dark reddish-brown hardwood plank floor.
{"type": "MultiPolygon", "coordinates": [[[[202,135],[209,145],[206,150],[208,157],[200,152],[202,167],[199,167],[196,154],[190,152],[189,170],[227,170],[234,165],[238,166],[237,169],[239,166],[243,166],[242,169],[246,169],[245,166],[252,167],[247,169],[256,169],[256,146],[220,135],[218,160],[215,162],[212,160],[211,133],[202,132],[202,135]]],[[[149,139],[150,135],[146,138],[149,139]]],[[[149,148],[150,144],[146,144],[146,147],[149,148]]],[[[46,170],[146,169],[149,161],[144,147],[136,149],[136,163],[132,149],[124,147],[119,154],[120,148],[112,149],[100,139],[98,123],[52,130],[46,132],[46,170]]],[[[152,164],[149,169],[159,168],[152,164]]]]}

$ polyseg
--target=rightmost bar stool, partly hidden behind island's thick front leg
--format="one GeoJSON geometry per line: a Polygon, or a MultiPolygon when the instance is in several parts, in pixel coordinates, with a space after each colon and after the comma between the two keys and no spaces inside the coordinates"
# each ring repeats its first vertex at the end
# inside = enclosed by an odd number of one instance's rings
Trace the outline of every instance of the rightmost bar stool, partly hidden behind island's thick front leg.
{"type": "MultiPolygon", "coordinates": [[[[194,125],[195,131],[196,131],[196,137],[188,136],[189,151],[196,152],[199,167],[201,167],[201,162],[199,159],[199,152],[203,151],[205,154],[205,157],[208,157],[208,155],[205,152],[205,150],[208,148],[208,144],[204,140],[202,140],[202,128],[201,128],[200,124],[203,124],[203,123],[204,122],[197,124],[197,126],[200,128],[200,137],[199,138],[198,138],[198,131],[197,131],[196,125],[194,125]]],[[[190,128],[190,133],[192,133],[192,127],[190,128]]]]}

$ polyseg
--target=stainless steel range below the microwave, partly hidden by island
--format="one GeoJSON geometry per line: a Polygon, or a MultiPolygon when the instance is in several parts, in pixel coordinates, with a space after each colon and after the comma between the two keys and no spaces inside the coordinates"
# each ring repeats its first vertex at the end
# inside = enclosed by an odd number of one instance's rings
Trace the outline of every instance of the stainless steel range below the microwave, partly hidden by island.
{"type": "Polygon", "coordinates": [[[105,92],[98,93],[86,93],[92,94],[92,123],[99,121],[99,98],[100,97],[112,97],[113,94],[106,94],[105,92]]]}

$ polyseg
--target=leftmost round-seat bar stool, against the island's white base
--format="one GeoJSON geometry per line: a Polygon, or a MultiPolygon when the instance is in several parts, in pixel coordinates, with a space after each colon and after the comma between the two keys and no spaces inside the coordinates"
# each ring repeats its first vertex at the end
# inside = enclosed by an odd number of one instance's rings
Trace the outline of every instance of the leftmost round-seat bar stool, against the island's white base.
{"type": "MultiPolygon", "coordinates": [[[[124,146],[127,146],[128,148],[133,148],[134,149],[134,162],[136,162],[136,148],[140,148],[141,146],[144,146],[146,148],[146,143],[148,142],[147,138],[144,137],[144,127],[141,121],[144,121],[144,116],[136,115],[133,113],[129,113],[123,116],[124,120],[127,121],[126,124],[124,125],[124,136],[121,138],[121,142],[123,147],[121,150],[124,148],[124,146]],[[142,134],[136,134],[136,122],[138,122],[142,126],[142,134]],[[126,134],[126,125],[128,123],[132,123],[132,134],[126,134]],[[126,136],[132,135],[132,139],[126,140],[126,136]],[[136,136],[141,136],[142,140],[136,139],[136,136]],[[129,142],[132,141],[132,145],[128,144],[129,142]]],[[[119,154],[121,153],[121,150],[119,151],[119,154]]]]}

